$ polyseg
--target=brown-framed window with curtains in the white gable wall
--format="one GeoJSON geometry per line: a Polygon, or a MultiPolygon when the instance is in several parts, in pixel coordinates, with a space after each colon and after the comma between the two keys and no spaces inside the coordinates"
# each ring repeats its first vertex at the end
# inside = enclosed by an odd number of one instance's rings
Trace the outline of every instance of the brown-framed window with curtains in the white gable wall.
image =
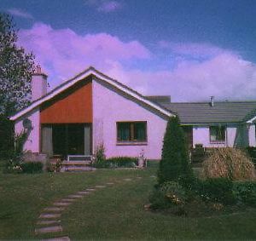
{"type": "Polygon", "coordinates": [[[118,122],[117,141],[145,142],[147,141],[147,122],[118,122]]]}

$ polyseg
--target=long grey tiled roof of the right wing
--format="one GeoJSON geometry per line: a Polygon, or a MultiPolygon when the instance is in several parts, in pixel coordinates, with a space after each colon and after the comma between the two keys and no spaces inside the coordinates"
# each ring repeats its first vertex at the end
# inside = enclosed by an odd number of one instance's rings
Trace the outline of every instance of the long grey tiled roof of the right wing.
{"type": "Polygon", "coordinates": [[[177,112],[181,123],[242,123],[256,116],[256,101],[215,101],[161,104],[177,112]]]}

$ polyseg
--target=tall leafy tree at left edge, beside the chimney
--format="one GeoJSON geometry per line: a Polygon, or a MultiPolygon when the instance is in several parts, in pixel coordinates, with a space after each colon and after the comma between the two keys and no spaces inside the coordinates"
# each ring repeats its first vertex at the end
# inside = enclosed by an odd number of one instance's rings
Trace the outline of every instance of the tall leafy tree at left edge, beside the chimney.
{"type": "Polygon", "coordinates": [[[30,103],[34,55],[17,44],[9,14],[0,13],[0,114],[10,116],[30,103]]]}

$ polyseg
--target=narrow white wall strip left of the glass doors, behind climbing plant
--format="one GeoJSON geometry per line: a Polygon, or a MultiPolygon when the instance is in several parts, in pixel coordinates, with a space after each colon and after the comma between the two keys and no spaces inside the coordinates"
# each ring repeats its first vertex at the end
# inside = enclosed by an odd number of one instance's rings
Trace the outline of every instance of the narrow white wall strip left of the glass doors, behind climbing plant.
{"type": "Polygon", "coordinates": [[[32,129],[28,135],[28,138],[24,145],[24,150],[31,152],[40,152],[40,111],[39,109],[34,109],[22,118],[19,118],[15,122],[15,134],[19,134],[24,130],[23,120],[28,118],[32,123],[32,129]]]}

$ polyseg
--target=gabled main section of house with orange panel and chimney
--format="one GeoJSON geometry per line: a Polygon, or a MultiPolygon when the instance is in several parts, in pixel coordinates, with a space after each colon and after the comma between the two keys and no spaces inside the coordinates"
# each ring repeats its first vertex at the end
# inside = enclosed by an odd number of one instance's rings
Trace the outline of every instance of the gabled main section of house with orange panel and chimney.
{"type": "Polygon", "coordinates": [[[46,93],[40,68],[32,77],[32,104],[10,119],[15,132],[29,131],[31,152],[90,155],[98,146],[107,157],[158,159],[172,112],[93,67],[46,93]]]}

